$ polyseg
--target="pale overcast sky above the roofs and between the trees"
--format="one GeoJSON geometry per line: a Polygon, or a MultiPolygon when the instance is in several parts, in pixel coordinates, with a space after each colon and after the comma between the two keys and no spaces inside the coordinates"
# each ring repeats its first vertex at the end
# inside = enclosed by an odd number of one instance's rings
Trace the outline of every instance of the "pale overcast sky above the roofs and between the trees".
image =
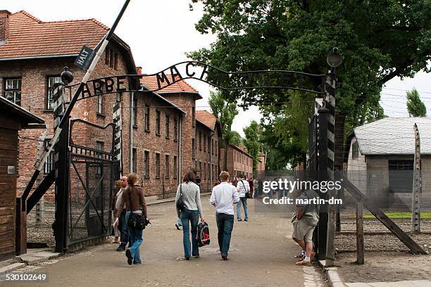
{"type": "MultiPolygon", "coordinates": [[[[215,40],[213,35],[202,35],[194,29],[202,15],[200,6],[189,11],[189,0],[132,0],[115,30],[132,48],[137,66],[144,73],[154,73],[168,66],[187,60],[185,52],[209,46],[215,40]]],[[[0,9],[15,13],[25,10],[42,21],[76,20],[96,18],[111,27],[116,15],[123,6],[123,0],[13,0],[1,1],[0,9]]],[[[431,115],[431,75],[420,72],[413,79],[399,78],[389,81],[382,93],[382,106],[390,117],[408,117],[405,91],[416,87],[431,115]]],[[[209,110],[207,99],[210,87],[197,80],[189,80],[204,99],[198,101],[198,109],[209,110]]],[[[240,112],[235,118],[233,129],[242,128],[251,120],[260,120],[256,107],[240,112]]]]}

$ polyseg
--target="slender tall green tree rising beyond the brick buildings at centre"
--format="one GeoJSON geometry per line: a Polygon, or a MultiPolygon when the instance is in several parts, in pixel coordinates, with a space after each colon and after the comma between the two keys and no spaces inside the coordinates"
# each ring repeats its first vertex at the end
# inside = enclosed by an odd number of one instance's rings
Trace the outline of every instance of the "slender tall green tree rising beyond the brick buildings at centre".
{"type": "Polygon", "coordinates": [[[223,148],[225,148],[223,169],[227,170],[227,146],[229,146],[232,136],[234,136],[231,129],[235,115],[238,114],[237,105],[235,102],[225,101],[225,96],[223,96],[222,92],[214,93],[212,91],[210,92],[208,103],[213,115],[220,120],[223,148]]]}

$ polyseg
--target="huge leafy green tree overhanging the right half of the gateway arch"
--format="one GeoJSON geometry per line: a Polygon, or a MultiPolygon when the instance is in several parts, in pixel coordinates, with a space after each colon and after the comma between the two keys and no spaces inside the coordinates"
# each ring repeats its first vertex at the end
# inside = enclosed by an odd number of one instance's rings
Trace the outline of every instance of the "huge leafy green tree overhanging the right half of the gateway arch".
{"type": "MultiPolygon", "coordinates": [[[[382,116],[375,101],[382,85],[393,77],[413,77],[419,70],[431,69],[427,66],[430,0],[192,0],[197,2],[204,5],[204,15],[196,30],[212,32],[217,40],[189,56],[223,70],[321,74],[328,68],[329,51],[339,48],[343,63],[337,68],[338,165],[344,153],[339,141],[344,125],[357,125],[358,118],[365,121],[367,113],[382,116]]],[[[268,117],[282,117],[284,103],[292,101],[292,94],[285,91],[240,91],[227,96],[246,104],[273,102],[268,117]]],[[[306,115],[301,119],[307,120],[306,115]]]]}

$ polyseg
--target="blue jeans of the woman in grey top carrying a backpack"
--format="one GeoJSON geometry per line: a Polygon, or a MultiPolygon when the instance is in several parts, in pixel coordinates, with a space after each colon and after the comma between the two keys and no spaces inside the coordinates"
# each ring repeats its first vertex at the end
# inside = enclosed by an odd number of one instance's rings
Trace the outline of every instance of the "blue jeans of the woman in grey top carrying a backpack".
{"type": "Polygon", "coordinates": [[[199,247],[197,245],[197,224],[199,212],[197,210],[184,209],[181,211],[180,219],[182,223],[182,244],[184,245],[184,257],[190,258],[190,228],[189,222],[192,225],[192,255],[199,255],[199,247]]]}

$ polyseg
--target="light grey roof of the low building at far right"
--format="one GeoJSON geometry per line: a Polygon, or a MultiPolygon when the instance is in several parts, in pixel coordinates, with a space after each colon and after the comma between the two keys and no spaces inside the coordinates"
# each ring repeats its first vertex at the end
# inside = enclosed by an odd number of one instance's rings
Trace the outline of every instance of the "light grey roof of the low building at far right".
{"type": "Polygon", "coordinates": [[[386,117],[354,129],[363,155],[413,155],[418,125],[420,153],[431,155],[431,117],[386,117]]]}

